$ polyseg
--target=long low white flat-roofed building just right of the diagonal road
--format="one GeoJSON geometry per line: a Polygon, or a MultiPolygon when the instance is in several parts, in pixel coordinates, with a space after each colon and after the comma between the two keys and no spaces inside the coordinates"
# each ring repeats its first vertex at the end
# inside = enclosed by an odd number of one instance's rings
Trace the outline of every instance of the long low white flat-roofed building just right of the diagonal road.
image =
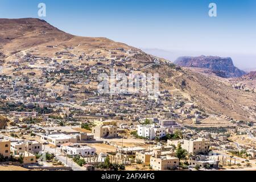
{"type": "Polygon", "coordinates": [[[89,147],[89,146],[80,146],[80,144],[74,144],[73,146],[66,146],[68,155],[80,155],[80,156],[88,156],[88,155],[95,155],[96,148],[89,147]]]}

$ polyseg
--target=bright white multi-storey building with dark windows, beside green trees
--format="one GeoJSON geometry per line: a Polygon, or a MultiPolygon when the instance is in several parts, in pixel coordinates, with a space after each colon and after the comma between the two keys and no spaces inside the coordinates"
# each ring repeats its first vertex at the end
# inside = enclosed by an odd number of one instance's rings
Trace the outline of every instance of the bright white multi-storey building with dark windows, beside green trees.
{"type": "Polygon", "coordinates": [[[137,133],[140,137],[145,137],[150,140],[156,137],[162,138],[166,136],[166,127],[159,125],[139,125],[137,133]]]}

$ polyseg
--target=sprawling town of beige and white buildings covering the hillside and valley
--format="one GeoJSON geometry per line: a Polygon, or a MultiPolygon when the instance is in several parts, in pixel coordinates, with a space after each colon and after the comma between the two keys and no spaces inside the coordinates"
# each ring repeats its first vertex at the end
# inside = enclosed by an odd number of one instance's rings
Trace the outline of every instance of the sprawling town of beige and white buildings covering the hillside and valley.
{"type": "Polygon", "coordinates": [[[167,64],[164,60],[137,49],[76,55],[72,49],[55,52],[54,57],[40,57],[29,49],[16,53],[2,68],[0,166],[74,171],[256,169],[255,121],[208,113],[175,88],[159,88],[152,95],[97,92],[99,73],[151,72],[167,64]]]}

